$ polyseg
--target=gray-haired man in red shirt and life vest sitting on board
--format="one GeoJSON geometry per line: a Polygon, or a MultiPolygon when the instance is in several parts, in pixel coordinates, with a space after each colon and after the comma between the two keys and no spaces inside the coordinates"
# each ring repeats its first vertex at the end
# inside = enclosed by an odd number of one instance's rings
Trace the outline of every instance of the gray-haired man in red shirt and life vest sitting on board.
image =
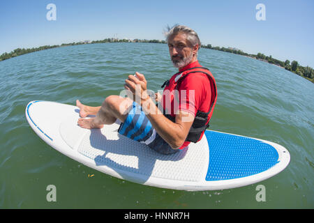
{"type": "Polygon", "coordinates": [[[124,87],[135,98],[140,98],[139,101],[110,95],[102,106],[89,107],[77,100],[82,116],[78,125],[89,129],[103,128],[118,118],[122,122],[120,134],[163,154],[175,153],[178,148],[188,146],[190,141],[199,141],[216,104],[216,83],[211,72],[197,61],[201,43],[193,29],[174,26],[168,29],[166,38],[172,63],[179,72],[165,82],[167,86],[162,96],[156,94],[162,109],[158,109],[149,97],[144,75],[135,72],[136,77],[129,75],[124,87]],[[96,117],[85,119],[89,114],[96,117]]]}

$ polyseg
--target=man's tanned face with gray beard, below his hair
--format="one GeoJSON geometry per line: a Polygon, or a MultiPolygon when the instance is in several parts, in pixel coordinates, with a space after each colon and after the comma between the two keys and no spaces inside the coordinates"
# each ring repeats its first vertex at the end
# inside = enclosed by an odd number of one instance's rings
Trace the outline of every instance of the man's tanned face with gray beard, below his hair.
{"type": "Polygon", "coordinates": [[[178,33],[168,39],[168,47],[173,65],[183,68],[193,59],[193,46],[186,38],[185,33],[178,33]]]}

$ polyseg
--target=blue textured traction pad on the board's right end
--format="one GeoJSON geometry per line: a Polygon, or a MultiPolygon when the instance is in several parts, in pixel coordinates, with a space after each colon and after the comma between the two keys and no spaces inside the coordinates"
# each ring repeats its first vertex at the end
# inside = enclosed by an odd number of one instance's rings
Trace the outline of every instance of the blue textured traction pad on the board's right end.
{"type": "Polygon", "coordinates": [[[209,144],[206,180],[230,180],[258,174],[278,163],[276,148],[256,139],[205,131],[209,144]]]}

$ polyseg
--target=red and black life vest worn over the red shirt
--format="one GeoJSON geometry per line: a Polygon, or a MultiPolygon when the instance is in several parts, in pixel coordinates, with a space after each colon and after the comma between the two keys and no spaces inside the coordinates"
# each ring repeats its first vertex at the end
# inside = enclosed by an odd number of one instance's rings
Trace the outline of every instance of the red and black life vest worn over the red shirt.
{"type": "MultiPolygon", "coordinates": [[[[208,112],[203,112],[203,111],[197,111],[195,115],[195,119],[193,121],[193,124],[190,128],[190,131],[188,132],[188,136],[186,137],[186,141],[192,141],[192,142],[197,142],[200,141],[202,138],[202,135],[204,131],[209,127],[209,121],[210,118],[214,112],[214,107],[216,105],[216,100],[217,100],[217,87],[216,87],[216,81],[211,75],[211,72],[207,68],[203,67],[195,67],[195,68],[190,68],[188,70],[184,70],[184,72],[177,72],[174,76],[172,76],[172,79],[165,81],[162,88],[167,85],[167,90],[170,92],[174,91],[177,89],[177,86],[182,80],[187,77],[187,75],[193,75],[193,73],[196,72],[202,72],[205,75],[207,75],[209,82],[211,84],[211,102],[210,102],[210,107],[208,112]],[[174,77],[174,79],[173,79],[174,77]]],[[[164,115],[169,118],[171,121],[175,121],[175,116],[171,116],[170,114],[165,114],[165,109],[164,109],[164,115]]]]}

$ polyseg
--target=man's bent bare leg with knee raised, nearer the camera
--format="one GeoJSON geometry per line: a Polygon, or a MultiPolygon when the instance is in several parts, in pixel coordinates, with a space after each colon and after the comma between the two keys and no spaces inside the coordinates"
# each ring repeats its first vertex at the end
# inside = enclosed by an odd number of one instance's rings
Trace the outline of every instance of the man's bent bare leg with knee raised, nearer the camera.
{"type": "Polygon", "coordinates": [[[130,100],[130,98],[122,98],[119,95],[110,95],[105,99],[100,108],[89,107],[89,109],[93,108],[91,111],[94,113],[98,109],[95,118],[79,118],[77,124],[82,128],[91,129],[103,128],[103,125],[111,125],[117,120],[117,118],[124,122],[126,116],[128,116],[128,110],[130,109],[132,103],[133,101],[130,100]]]}

